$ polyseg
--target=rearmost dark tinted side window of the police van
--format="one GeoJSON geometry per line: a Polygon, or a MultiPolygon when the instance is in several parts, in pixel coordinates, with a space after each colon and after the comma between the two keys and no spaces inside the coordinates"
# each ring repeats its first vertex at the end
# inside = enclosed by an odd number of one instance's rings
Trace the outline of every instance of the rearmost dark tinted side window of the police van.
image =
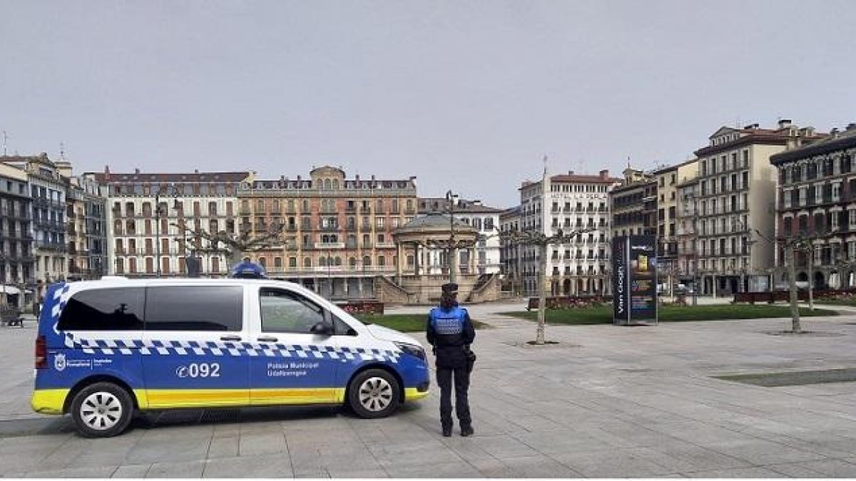
{"type": "Polygon", "coordinates": [[[142,330],[143,288],[91,289],[71,296],[59,330],[142,330]]]}

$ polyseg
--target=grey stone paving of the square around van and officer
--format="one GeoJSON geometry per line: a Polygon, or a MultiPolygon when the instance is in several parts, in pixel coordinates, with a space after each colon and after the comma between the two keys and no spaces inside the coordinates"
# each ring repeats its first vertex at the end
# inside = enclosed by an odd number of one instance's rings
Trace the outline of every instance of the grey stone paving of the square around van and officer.
{"type": "Polygon", "coordinates": [[[853,314],[804,319],[823,336],[771,334],[788,319],[548,326],[559,344],[530,347],[534,324],[496,315],[520,308],[471,309],[494,327],[477,336],[469,438],[441,436],[435,388],[389,419],[317,407],[155,413],[87,440],[67,418],[30,412],[35,330],[3,327],[0,476],[856,477],[856,383],[711,377],[856,367],[853,314]]]}

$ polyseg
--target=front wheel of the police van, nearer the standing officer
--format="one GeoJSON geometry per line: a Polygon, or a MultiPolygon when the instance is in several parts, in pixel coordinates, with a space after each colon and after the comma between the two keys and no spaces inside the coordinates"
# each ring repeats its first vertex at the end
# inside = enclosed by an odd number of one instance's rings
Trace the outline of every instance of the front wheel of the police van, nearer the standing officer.
{"type": "Polygon", "coordinates": [[[348,405],[360,418],[385,418],[395,412],[401,396],[395,377],[381,369],[360,372],[348,386],[348,405]]]}

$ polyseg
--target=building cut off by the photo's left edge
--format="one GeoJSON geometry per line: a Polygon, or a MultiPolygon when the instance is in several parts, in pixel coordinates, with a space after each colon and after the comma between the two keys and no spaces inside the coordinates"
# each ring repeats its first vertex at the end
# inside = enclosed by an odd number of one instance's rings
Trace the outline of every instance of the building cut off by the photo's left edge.
{"type": "Polygon", "coordinates": [[[23,308],[33,301],[32,199],[27,172],[0,163],[0,306],[23,308]]]}

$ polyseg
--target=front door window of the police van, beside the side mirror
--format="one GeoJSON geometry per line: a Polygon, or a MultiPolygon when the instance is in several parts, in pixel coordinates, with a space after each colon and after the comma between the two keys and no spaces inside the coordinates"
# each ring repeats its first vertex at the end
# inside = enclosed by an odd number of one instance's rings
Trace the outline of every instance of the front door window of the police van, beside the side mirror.
{"type": "Polygon", "coordinates": [[[324,309],[286,290],[263,288],[259,303],[263,332],[312,334],[312,326],[324,320],[324,309]]]}

